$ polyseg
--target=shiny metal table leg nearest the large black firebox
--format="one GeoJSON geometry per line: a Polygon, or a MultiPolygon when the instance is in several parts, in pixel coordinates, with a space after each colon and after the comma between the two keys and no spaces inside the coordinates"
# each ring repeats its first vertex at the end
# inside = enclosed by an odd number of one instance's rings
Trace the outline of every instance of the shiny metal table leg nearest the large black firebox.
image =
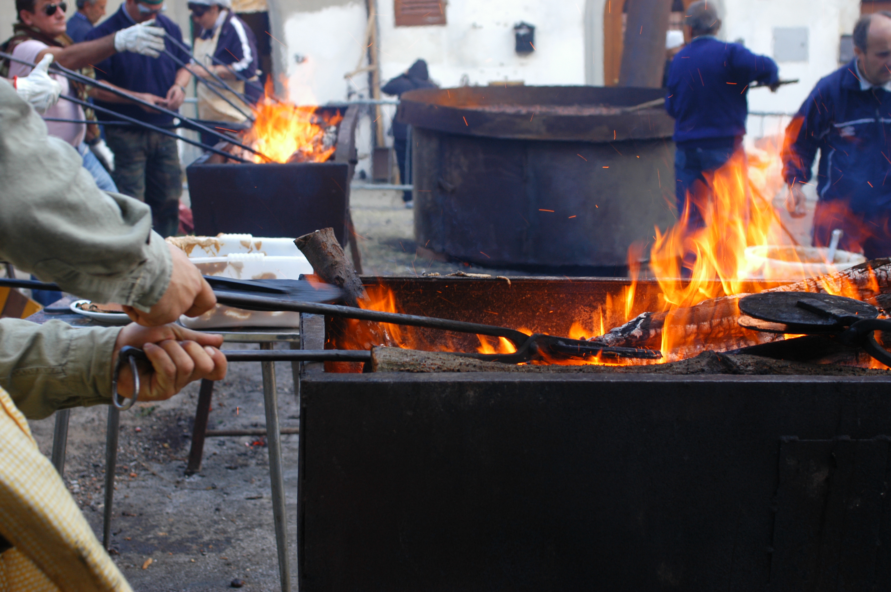
{"type": "MultiPolygon", "coordinates": [[[[273,344],[260,344],[260,349],[271,350],[273,344]]],[[[284,507],[284,475],[282,474],[282,435],[278,423],[278,393],[275,390],[275,362],[264,361],[263,401],[266,406],[266,445],[269,449],[269,480],[273,494],[275,546],[278,549],[279,577],[282,592],[290,592],[290,564],[288,562],[287,517],[284,507]]]]}

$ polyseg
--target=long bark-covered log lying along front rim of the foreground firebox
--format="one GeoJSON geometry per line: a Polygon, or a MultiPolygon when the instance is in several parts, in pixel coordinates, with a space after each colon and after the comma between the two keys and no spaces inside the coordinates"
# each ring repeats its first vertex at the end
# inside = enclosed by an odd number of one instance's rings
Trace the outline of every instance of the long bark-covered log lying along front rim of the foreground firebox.
{"type": "Polygon", "coordinates": [[[372,349],[374,372],[519,372],[531,374],[669,374],[669,375],[803,375],[803,376],[887,376],[885,370],[855,368],[834,364],[771,360],[757,355],[728,355],[708,350],[688,360],[653,366],[580,366],[502,364],[479,361],[453,353],[421,352],[398,347],[372,349]]]}

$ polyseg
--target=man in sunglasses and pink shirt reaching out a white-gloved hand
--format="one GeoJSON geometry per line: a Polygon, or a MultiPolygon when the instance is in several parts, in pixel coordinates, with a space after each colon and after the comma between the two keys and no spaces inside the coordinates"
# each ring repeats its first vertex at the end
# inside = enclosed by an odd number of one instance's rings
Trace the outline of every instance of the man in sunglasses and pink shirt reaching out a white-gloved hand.
{"type": "MultiPolygon", "coordinates": [[[[19,22],[14,35],[0,49],[23,61],[39,62],[50,54],[62,66],[82,69],[86,76],[93,76],[89,64],[102,61],[117,52],[139,52],[158,55],[164,47],[164,31],[157,27],[139,26],[118,31],[114,35],[96,38],[83,44],[74,44],[66,35],[64,0],[16,0],[19,22]]],[[[27,77],[31,69],[20,63],[3,61],[0,76],[27,77]]],[[[86,85],[69,83],[68,79],[51,74],[61,85],[62,94],[85,101],[89,95],[86,85]]],[[[69,142],[81,155],[84,166],[93,175],[96,184],[104,191],[118,191],[108,172],[89,150],[88,145],[99,140],[97,126],[89,125],[95,118],[87,109],[70,101],[60,101],[43,113],[45,118],[78,120],[83,123],[48,121],[49,133],[69,142]]]]}

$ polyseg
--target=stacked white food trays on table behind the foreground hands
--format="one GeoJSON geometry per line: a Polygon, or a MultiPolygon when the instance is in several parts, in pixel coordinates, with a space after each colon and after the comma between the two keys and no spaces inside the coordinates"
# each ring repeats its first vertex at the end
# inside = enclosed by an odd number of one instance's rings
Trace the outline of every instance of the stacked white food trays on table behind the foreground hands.
{"type": "MultiPolygon", "coordinates": [[[[255,238],[249,234],[221,234],[217,237],[179,237],[171,240],[183,248],[201,273],[234,280],[298,280],[310,274],[313,266],[294,245],[294,239],[255,238]],[[204,256],[214,254],[214,256],[204,256]]],[[[200,317],[180,317],[188,328],[296,328],[299,312],[244,311],[217,306],[200,317]]]]}

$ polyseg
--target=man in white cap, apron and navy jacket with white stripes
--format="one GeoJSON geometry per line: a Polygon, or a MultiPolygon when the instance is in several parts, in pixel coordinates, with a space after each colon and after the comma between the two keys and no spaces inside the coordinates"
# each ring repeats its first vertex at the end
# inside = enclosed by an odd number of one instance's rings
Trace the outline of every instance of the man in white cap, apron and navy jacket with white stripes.
{"type": "MultiPolygon", "coordinates": [[[[192,64],[189,67],[192,74],[211,78],[208,74],[210,70],[225,80],[236,93],[247,94],[250,100],[256,102],[261,94],[257,77],[257,38],[244,21],[232,12],[231,0],[192,0],[189,10],[192,11],[192,20],[200,27],[192,53],[195,60],[203,65],[202,68],[192,64]],[[246,85],[245,80],[249,80],[249,84],[246,85]]],[[[239,105],[242,111],[249,112],[249,105],[244,105],[244,101],[233,93],[223,89],[220,89],[220,93],[239,105]]],[[[235,123],[247,119],[238,109],[210,91],[207,85],[198,85],[198,117],[235,123]]]]}

